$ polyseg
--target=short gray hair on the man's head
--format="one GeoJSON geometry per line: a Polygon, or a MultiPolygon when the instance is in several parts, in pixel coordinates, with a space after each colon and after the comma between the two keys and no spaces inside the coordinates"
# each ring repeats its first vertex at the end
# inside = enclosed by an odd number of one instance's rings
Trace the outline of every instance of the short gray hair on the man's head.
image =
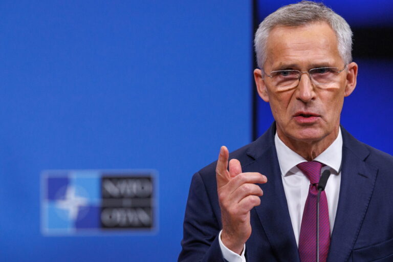
{"type": "Polygon", "coordinates": [[[322,3],[301,1],[279,8],[259,24],[255,33],[254,46],[258,67],[266,62],[266,45],[270,31],[276,26],[298,27],[318,21],[328,23],[337,36],[338,52],[345,62],[352,62],[352,31],[348,23],[332,9],[322,3]]]}

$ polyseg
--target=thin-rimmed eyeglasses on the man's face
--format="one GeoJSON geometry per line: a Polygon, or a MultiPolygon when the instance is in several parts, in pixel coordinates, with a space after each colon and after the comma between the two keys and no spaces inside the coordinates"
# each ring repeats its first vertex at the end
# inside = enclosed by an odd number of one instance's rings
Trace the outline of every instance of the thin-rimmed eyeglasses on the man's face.
{"type": "Polygon", "coordinates": [[[314,85],[318,85],[320,88],[329,88],[329,86],[339,81],[338,74],[344,71],[345,68],[346,65],[341,70],[334,67],[313,68],[309,71],[278,70],[270,72],[270,75],[265,73],[265,75],[273,80],[273,85],[277,89],[281,90],[291,89],[297,86],[302,74],[309,74],[311,82],[314,85]]]}

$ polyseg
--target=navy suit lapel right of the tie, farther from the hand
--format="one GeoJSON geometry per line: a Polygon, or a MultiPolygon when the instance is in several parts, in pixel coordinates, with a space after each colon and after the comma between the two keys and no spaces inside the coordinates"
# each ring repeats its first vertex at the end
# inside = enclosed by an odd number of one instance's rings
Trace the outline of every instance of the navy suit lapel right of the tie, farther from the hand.
{"type": "Polygon", "coordinates": [[[366,164],[368,149],[341,127],[343,136],[339,202],[328,261],[346,261],[364,219],[378,169],[366,164]]]}

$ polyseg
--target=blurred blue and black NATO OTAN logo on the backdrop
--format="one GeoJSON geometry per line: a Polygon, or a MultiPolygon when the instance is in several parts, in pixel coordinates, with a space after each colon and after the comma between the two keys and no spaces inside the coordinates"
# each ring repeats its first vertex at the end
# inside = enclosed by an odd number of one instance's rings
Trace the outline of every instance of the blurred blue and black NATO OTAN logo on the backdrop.
{"type": "Polygon", "coordinates": [[[45,235],[153,232],[156,172],[47,170],[41,173],[45,235]]]}

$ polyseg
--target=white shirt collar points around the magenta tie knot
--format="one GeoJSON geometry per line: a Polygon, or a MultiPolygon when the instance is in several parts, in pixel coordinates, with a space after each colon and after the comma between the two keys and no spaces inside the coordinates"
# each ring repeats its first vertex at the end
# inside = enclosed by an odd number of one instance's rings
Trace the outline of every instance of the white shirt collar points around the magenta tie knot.
{"type": "MultiPolygon", "coordinates": [[[[282,176],[287,176],[293,167],[301,162],[306,162],[303,157],[298,155],[295,151],[284,144],[277,135],[274,136],[274,143],[276,146],[278,163],[280,165],[282,176]]],[[[313,161],[321,162],[326,166],[333,168],[337,174],[340,171],[342,158],[342,135],[341,128],[339,128],[336,140],[326,148],[318,157],[313,161]]]]}

